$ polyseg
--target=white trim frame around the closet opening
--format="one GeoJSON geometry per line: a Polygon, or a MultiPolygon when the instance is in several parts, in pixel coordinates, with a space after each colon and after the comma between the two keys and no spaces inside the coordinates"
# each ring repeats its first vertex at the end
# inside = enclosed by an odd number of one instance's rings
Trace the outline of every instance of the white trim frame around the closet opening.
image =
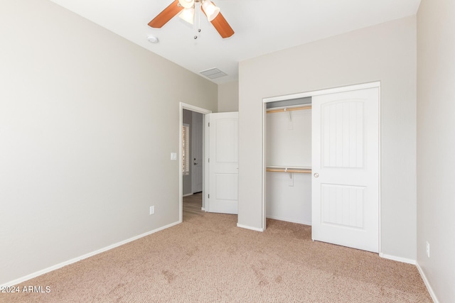
{"type": "MultiPolygon", "coordinates": [[[[264,98],[262,99],[263,102],[263,108],[262,108],[262,230],[264,231],[266,228],[266,115],[267,115],[267,103],[269,102],[274,102],[274,101],[284,101],[284,100],[289,100],[289,99],[298,99],[298,98],[304,98],[304,97],[314,97],[314,96],[319,96],[321,94],[334,94],[338,92],[349,92],[349,91],[354,91],[358,89],[369,89],[373,87],[378,87],[379,88],[379,94],[380,94],[380,82],[370,82],[370,83],[364,83],[364,84],[355,84],[355,85],[350,85],[347,87],[335,87],[331,89],[321,89],[313,92],[302,92],[298,94],[288,94],[284,96],[277,96],[277,97],[269,97],[269,98],[264,98]]],[[[379,189],[379,253],[381,255],[382,249],[381,249],[381,98],[379,97],[379,184],[378,184],[378,189],[379,189]]]]}

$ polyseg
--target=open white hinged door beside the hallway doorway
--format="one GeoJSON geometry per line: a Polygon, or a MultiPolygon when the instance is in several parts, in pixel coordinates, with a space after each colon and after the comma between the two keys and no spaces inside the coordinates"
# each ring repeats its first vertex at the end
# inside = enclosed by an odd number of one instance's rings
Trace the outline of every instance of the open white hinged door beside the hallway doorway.
{"type": "Polygon", "coordinates": [[[237,214],[238,112],[208,114],[209,191],[206,211],[237,214]]]}

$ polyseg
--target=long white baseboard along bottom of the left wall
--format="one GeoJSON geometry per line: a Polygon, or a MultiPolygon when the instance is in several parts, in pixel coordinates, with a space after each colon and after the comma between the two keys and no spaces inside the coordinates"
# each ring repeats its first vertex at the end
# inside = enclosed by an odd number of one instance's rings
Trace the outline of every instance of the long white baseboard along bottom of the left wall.
{"type": "Polygon", "coordinates": [[[152,233],[156,233],[157,231],[162,231],[163,229],[166,229],[166,228],[169,228],[171,226],[174,226],[174,225],[177,225],[177,224],[180,224],[181,222],[180,221],[177,221],[177,222],[174,222],[174,223],[171,223],[171,224],[168,224],[166,226],[162,226],[160,228],[156,228],[154,229],[153,231],[148,231],[146,233],[142,233],[141,235],[139,236],[134,236],[132,238],[129,238],[127,240],[124,240],[124,241],[120,241],[118,243],[114,243],[112,245],[109,245],[109,246],[106,246],[105,248],[101,248],[99,250],[95,250],[93,251],[92,253],[86,253],[85,255],[81,255],[80,257],[77,257],[77,258],[73,258],[71,260],[68,260],[68,261],[65,261],[63,263],[59,263],[57,265],[53,265],[53,266],[50,266],[49,268],[45,268],[43,270],[38,270],[37,272],[33,272],[31,273],[30,275],[26,275],[24,277],[20,277],[16,280],[12,280],[10,282],[6,282],[5,284],[3,285],[0,285],[0,287],[10,287],[10,286],[13,286],[13,285],[18,285],[19,283],[22,283],[22,282],[25,282],[27,280],[30,280],[30,279],[33,279],[33,277],[38,277],[39,275],[44,275],[45,273],[48,273],[48,272],[51,272],[53,270],[58,270],[59,268],[63,268],[63,266],[66,266],[66,265],[70,265],[70,264],[73,264],[73,263],[76,263],[80,260],[84,260],[86,258],[90,258],[92,257],[93,255],[97,255],[99,253],[104,253],[105,251],[107,250],[111,250],[112,248],[116,248],[116,247],[119,247],[119,246],[122,246],[126,243],[129,243],[129,242],[132,242],[134,240],[137,240],[139,238],[142,238],[142,237],[145,237],[145,236],[149,236],[151,235],[152,233]]]}

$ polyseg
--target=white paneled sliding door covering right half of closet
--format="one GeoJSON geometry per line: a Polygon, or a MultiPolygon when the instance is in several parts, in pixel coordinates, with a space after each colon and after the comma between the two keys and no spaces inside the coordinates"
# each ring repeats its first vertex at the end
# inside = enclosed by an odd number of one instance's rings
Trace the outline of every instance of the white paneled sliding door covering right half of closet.
{"type": "Polygon", "coordinates": [[[312,99],[313,240],[379,250],[379,88],[312,99]]]}

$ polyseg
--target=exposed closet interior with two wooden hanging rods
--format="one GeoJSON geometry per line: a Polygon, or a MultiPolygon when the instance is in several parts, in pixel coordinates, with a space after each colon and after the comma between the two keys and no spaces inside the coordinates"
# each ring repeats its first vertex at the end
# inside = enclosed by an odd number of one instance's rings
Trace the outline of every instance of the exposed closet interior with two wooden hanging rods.
{"type": "Polygon", "coordinates": [[[267,103],[266,216],[311,225],[311,97],[267,103]]]}

